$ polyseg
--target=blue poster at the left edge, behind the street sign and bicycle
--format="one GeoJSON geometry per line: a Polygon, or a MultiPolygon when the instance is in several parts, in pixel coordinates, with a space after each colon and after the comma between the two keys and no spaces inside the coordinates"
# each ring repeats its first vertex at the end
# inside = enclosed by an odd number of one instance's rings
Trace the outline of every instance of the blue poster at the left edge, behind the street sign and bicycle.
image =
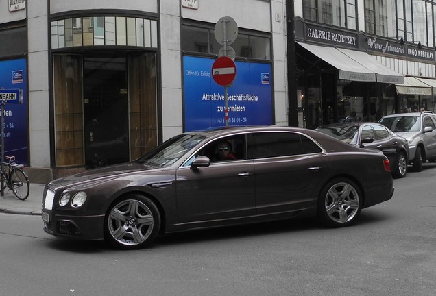
{"type": "MultiPolygon", "coordinates": [[[[0,90],[4,106],[5,156],[15,156],[15,162],[29,164],[27,147],[27,68],[24,58],[0,61],[0,90]],[[11,91],[8,91],[11,90],[11,91]],[[19,100],[9,99],[8,94],[18,93],[19,100]]],[[[2,136],[0,134],[0,136],[2,136]]]]}

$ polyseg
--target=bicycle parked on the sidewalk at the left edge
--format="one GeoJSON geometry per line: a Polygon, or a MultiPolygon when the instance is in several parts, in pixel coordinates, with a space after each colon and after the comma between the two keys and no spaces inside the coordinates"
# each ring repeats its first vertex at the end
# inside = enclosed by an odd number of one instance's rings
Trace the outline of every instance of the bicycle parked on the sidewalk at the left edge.
{"type": "Polygon", "coordinates": [[[16,164],[15,156],[5,156],[8,162],[0,162],[1,193],[11,190],[21,200],[29,197],[29,177],[23,171],[23,164],[16,164]]]}

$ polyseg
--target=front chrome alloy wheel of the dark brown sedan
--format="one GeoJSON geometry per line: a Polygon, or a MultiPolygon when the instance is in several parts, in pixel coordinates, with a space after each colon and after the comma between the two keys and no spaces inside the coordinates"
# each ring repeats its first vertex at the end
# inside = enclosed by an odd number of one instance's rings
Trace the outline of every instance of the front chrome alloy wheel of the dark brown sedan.
{"type": "Polygon", "coordinates": [[[145,243],[154,229],[152,210],[136,199],[126,199],[116,204],[108,216],[108,232],[117,243],[136,246],[145,243]]]}

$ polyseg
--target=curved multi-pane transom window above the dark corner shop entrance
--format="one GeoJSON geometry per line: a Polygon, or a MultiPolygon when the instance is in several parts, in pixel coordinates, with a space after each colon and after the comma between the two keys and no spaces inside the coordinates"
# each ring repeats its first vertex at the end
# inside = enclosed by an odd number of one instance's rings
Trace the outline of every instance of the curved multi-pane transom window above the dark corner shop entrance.
{"type": "Polygon", "coordinates": [[[158,47],[157,21],[123,16],[86,16],[51,22],[51,48],[93,45],[158,47]]]}

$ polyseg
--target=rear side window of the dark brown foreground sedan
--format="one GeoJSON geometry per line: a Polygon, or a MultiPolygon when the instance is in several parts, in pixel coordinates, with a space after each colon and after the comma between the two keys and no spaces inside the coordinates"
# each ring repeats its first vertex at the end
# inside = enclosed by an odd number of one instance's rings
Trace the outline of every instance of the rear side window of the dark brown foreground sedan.
{"type": "Polygon", "coordinates": [[[252,134],[253,158],[294,156],[321,152],[313,140],[294,132],[265,132],[252,134]]]}

